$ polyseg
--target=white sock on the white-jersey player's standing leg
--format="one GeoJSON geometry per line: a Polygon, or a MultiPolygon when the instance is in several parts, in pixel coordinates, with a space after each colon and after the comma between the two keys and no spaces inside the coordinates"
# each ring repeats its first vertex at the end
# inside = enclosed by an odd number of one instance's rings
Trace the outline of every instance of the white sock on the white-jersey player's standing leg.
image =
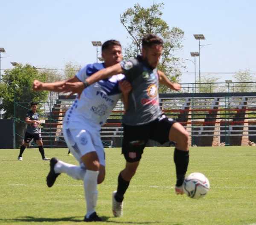
{"type": "Polygon", "coordinates": [[[86,170],[84,175],[84,194],[87,205],[87,213],[86,218],[90,216],[90,214],[95,212],[98,191],[97,191],[97,178],[99,171],[86,170]]]}

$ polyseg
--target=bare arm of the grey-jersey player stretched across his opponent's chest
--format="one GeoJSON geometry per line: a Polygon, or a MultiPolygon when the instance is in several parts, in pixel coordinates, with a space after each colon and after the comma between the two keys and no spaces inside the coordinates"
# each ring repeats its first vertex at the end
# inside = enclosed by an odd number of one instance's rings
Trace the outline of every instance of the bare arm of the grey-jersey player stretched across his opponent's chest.
{"type": "Polygon", "coordinates": [[[83,89],[97,81],[103,80],[105,78],[111,77],[113,75],[122,73],[123,69],[120,65],[120,63],[117,63],[113,66],[109,66],[105,69],[99,70],[98,72],[94,73],[90,77],[88,77],[84,82],[66,82],[63,86],[65,92],[71,92],[70,95],[73,95],[75,93],[78,94],[78,96],[81,95],[83,89]]]}

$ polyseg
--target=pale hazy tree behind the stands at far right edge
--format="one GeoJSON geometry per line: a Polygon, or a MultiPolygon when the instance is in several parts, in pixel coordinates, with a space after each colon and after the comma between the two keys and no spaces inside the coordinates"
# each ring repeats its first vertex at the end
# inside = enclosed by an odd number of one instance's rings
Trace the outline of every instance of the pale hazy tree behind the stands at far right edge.
{"type": "Polygon", "coordinates": [[[233,83],[233,91],[234,92],[256,92],[255,84],[253,83],[243,83],[243,82],[255,82],[255,76],[250,73],[249,69],[239,70],[233,75],[235,78],[235,82],[241,82],[238,84],[233,83]]]}

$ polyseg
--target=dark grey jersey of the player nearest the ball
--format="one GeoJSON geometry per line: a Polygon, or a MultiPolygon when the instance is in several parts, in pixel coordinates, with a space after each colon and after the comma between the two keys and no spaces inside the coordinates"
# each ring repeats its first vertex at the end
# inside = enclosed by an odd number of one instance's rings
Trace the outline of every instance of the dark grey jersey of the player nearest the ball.
{"type": "Polygon", "coordinates": [[[132,86],[123,123],[136,126],[155,120],[162,114],[159,106],[157,69],[152,69],[140,56],[120,64],[132,86]]]}

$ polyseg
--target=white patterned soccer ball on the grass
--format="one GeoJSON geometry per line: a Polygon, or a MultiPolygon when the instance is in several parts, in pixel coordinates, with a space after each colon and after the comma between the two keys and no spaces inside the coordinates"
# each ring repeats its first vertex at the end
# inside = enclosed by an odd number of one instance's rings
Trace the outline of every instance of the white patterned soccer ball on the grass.
{"type": "Polygon", "coordinates": [[[192,199],[204,197],[209,188],[209,180],[203,173],[190,173],[183,182],[184,192],[192,199]]]}

